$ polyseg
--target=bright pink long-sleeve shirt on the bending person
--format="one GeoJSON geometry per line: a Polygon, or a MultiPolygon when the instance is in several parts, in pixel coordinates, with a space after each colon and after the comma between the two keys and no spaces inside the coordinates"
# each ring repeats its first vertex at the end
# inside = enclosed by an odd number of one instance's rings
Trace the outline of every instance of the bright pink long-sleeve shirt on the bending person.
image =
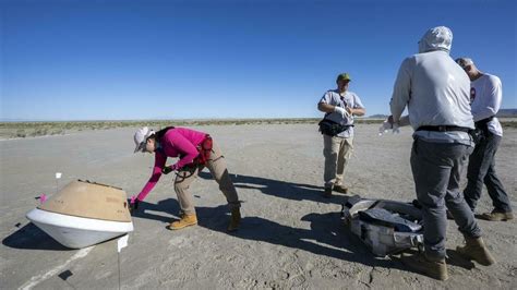
{"type": "Polygon", "coordinates": [[[153,173],[140,192],[139,201],[144,201],[145,196],[154,189],[159,178],[161,177],[161,169],[165,167],[167,157],[180,157],[176,162],[177,168],[192,162],[197,157],[197,146],[205,140],[206,133],[185,129],[175,128],[165,133],[161,140],[158,141],[159,148],[155,152],[155,166],[153,173]]]}

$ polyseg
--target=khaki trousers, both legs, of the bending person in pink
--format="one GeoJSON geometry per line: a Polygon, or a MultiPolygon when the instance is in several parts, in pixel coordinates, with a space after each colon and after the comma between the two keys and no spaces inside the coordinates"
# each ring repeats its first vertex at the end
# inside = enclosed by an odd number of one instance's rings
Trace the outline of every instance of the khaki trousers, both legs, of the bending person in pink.
{"type": "MultiPolygon", "coordinates": [[[[225,157],[223,156],[219,146],[217,146],[215,141],[213,141],[212,153],[208,161],[206,162],[206,167],[219,184],[219,190],[225,194],[230,209],[239,208],[240,202],[239,197],[237,196],[236,188],[233,186],[233,182],[228,174],[225,157]]],[[[182,168],[176,177],[175,191],[178,195],[178,202],[180,204],[181,212],[184,214],[195,214],[192,194],[190,193],[189,189],[190,184],[197,178],[197,174],[201,170],[203,170],[203,167],[185,167],[182,168]]]]}

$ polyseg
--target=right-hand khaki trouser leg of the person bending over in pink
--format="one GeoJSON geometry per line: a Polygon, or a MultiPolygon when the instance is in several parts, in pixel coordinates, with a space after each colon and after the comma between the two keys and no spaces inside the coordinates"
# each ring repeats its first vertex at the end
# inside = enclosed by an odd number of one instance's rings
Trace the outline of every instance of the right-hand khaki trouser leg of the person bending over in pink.
{"type": "Polygon", "coordinates": [[[223,192],[223,194],[225,194],[230,209],[239,208],[239,196],[237,195],[236,186],[233,185],[230,174],[228,173],[225,156],[223,156],[219,146],[217,146],[215,142],[213,142],[211,157],[206,162],[206,167],[219,184],[219,190],[223,192]]]}

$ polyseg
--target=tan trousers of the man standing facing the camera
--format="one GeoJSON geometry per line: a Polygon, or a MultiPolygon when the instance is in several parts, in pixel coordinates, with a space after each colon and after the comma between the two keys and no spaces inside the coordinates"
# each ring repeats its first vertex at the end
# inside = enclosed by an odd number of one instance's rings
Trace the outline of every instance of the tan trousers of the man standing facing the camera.
{"type": "Polygon", "coordinates": [[[323,156],[325,157],[325,169],[323,179],[325,188],[342,184],[342,176],[347,164],[352,157],[353,137],[332,137],[323,135],[323,156]]]}

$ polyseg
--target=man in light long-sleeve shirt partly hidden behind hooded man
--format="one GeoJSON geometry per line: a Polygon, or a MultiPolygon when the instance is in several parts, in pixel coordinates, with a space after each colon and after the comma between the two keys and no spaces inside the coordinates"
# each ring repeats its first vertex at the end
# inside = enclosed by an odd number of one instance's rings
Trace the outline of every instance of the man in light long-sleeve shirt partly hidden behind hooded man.
{"type": "Polygon", "coordinates": [[[465,200],[472,212],[481,197],[483,183],[494,205],[492,213],[481,215],[486,220],[509,220],[514,218],[508,194],[495,173],[495,153],[503,137],[503,128],[495,114],[501,108],[503,90],[501,80],[483,73],[469,58],[456,59],[470,78],[470,107],[476,122],[478,143],[470,155],[467,170],[465,200]]]}

